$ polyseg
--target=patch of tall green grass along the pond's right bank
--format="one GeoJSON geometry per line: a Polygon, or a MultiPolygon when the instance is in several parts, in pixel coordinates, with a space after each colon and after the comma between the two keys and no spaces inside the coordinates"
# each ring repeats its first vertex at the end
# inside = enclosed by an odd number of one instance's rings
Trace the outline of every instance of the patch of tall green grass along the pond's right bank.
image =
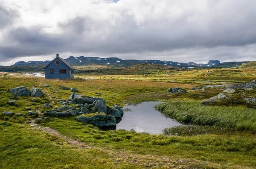
{"type": "Polygon", "coordinates": [[[199,101],[171,101],[155,106],[164,115],[186,124],[221,126],[256,132],[256,110],[245,107],[201,107],[199,101]]]}

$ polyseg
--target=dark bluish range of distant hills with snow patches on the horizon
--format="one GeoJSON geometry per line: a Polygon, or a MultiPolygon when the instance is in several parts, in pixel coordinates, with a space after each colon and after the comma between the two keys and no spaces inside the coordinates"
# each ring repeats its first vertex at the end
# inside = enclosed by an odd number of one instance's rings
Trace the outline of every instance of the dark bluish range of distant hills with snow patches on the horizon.
{"type": "MultiPolygon", "coordinates": [[[[119,59],[116,57],[108,57],[108,58],[101,58],[101,57],[74,57],[70,56],[69,58],[65,59],[73,66],[82,66],[82,65],[118,65],[122,67],[128,67],[131,65],[139,65],[143,63],[148,64],[158,64],[164,66],[173,66],[177,68],[188,68],[188,67],[212,67],[215,65],[220,64],[218,60],[209,60],[208,64],[197,64],[194,62],[189,63],[181,63],[181,62],[172,62],[172,61],[161,61],[161,60],[136,60],[136,59],[119,59]]],[[[12,66],[26,66],[26,65],[47,65],[50,61],[19,61],[12,66]]]]}

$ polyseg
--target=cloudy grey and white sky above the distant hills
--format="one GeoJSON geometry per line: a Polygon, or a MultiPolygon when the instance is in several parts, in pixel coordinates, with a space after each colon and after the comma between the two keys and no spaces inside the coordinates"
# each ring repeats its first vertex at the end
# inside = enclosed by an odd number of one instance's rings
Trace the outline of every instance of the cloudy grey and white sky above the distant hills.
{"type": "Polygon", "coordinates": [[[97,56],[256,60],[256,0],[0,0],[0,65],[97,56]]]}

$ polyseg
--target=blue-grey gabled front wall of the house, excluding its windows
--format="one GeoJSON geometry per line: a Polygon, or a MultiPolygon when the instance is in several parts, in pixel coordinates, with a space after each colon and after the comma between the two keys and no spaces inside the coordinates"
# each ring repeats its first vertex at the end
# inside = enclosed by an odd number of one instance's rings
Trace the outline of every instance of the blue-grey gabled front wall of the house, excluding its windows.
{"type": "Polygon", "coordinates": [[[67,65],[65,65],[63,62],[60,61],[60,59],[56,59],[52,64],[50,64],[46,69],[45,69],[45,78],[70,78],[71,75],[71,70],[67,65]],[[59,61],[59,65],[56,65],[56,61],[59,61]],[[50,73],[50,69],[54,70],[54,73],[50,73]],[[66,69],[67,73],[62,74],[59,73],[60,69],[66,69]]]}

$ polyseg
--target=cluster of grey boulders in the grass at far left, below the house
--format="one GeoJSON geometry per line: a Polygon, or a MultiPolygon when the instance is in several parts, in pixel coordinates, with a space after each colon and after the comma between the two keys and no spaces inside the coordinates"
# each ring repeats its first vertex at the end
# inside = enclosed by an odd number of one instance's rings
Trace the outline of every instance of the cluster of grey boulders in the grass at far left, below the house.
{"type": "Polygon", "coordinates": [[[43,96],[44,92],[38,88],[33,87],[31,90],[28,90],[25,86],[15,87],[8,91],[12,93],[13,96],[21,96],[21,97],[41,97],[43,96]]]}

